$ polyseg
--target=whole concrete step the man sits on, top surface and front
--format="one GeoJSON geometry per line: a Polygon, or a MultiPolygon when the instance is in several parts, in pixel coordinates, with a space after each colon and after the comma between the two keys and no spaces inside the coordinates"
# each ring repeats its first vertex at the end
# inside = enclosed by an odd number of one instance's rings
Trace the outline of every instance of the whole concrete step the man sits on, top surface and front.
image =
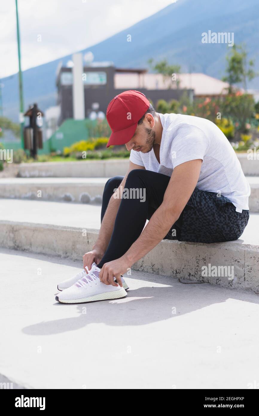
{"type": "MultiPolygon", "coordinates": [[[[0,247],[81,260],[96,241],[100,210],[100,206],[94,205],[2,199],[0,247]]],[[[258,228],[259,215],[251,214],[243,235],[233,242],[163,240],[133,267],[158,275],[259,292],[258,228]],[[217,273],[210,273],[209,265],[216,266],[217,273]],[[208,276],[202,275],[204,266],[208,276]],[[219,269],[223,266],[229,269],[223,272],[219,269]]]]}

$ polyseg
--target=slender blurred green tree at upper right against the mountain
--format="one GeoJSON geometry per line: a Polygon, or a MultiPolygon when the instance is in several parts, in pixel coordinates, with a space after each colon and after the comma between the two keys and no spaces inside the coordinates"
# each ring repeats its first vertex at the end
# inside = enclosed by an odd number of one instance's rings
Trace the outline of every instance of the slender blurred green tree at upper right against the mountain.
{"type": "Polygon", "coordinates": [[[222,81],[229,83],[229,93],[233,92],[233,85],[242,83],[245,91],[247,91],[247,82],[258,76],[254,72],[254,60],[247,62],[247,50],[244,45],[233,45],[231,51],[227,55],[227,75],[222,81]]]}

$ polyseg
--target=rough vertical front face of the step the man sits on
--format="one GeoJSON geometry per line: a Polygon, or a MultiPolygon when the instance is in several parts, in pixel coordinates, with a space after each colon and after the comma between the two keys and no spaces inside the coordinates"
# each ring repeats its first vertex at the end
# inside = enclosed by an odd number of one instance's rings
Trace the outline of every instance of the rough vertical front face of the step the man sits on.
{"type": "MultiPolygon", "coordinates": [[[[0,221],[0,246],[81,260],[98,230],[0,221]]],[[[201,244],[163,240],[133,266],[158,275],[259,292],[259,245],[243,240],[201,244]],[[234,278],[202,276],[202,266],[234,267],[234,278]]]]}

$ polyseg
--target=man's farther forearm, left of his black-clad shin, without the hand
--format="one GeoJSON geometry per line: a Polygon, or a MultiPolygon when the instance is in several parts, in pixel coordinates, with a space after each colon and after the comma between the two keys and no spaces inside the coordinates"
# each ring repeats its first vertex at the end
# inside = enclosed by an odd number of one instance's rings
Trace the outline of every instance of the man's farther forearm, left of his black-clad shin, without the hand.
{"type": "Polygon", "coordinates": [[[121,203],[121,199],[116,199],[111,196],[109,204],[107,206],[104,218],[101,223],[101,228],[99,231],[98,238],[93,245],[94,248],[99,248],[101,251],[105,252],[108,247],[109,241],[111,240],[111,234],[114,227],[115,218],[121,203]]]}

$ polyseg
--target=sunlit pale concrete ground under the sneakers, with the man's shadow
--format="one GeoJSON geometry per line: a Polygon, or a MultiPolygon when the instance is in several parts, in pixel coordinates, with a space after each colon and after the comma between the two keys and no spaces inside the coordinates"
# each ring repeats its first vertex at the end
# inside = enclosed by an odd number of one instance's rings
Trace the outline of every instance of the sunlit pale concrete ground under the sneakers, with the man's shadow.
{"type": "Polygon", "coordinates": [[[1,249],[0,264],[0,380],[13,388],[247,389],[257,380],[253,293],[133,270],[124,299],[61,305],[57,283],[81,261],[1,249]]]}

